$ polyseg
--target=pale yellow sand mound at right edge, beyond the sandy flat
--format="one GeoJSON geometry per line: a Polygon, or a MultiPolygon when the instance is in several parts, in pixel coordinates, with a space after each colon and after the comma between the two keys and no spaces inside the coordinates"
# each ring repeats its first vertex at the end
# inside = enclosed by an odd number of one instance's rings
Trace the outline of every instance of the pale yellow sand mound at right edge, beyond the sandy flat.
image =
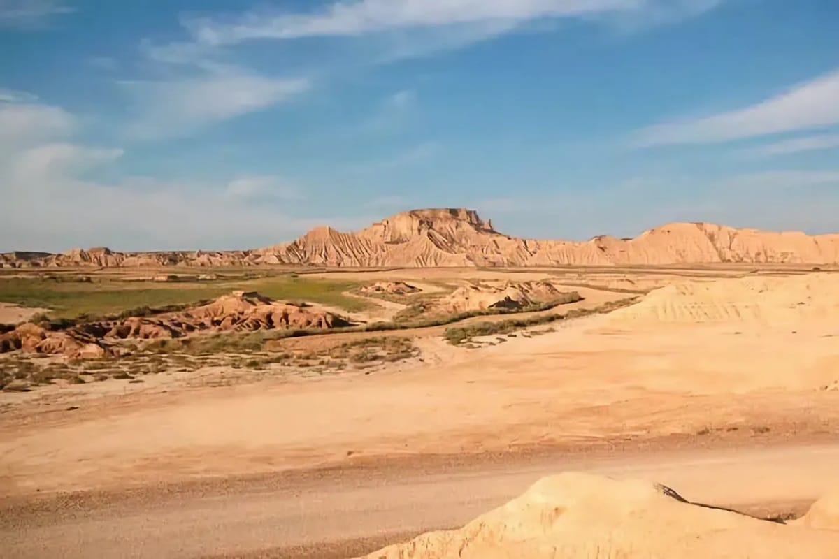
{"type": "Polygon", "coordinates": [[[638,328],[658,323],[739,323],[769,326],[835,317],[839,274],[743,277],[685,282],[650,292],[641,303],[609,318],[612,326],[638,328]]]}

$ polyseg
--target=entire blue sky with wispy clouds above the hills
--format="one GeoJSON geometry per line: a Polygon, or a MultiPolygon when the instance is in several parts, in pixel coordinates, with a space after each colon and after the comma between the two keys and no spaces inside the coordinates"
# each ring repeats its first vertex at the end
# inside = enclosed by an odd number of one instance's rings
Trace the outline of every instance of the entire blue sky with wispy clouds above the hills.
{"type": "Polygon", "coordinates": [[[833,0],[0,0],[0,251],[839,230],[833,0]]]}

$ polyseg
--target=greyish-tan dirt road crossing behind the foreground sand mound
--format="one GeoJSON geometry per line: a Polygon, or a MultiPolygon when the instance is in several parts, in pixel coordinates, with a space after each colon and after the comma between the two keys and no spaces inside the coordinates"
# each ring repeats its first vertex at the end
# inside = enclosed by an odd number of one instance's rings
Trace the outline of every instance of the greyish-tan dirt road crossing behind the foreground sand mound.
{"type": "Polygon", "coordinates": [[[18,501],[0,515],[0,543],[5,557],[341,557],[461,525],[562,470],[654,479],[686,499],[769,514],[835,487],[837,466],[839,443],[822,443],[277,474],[18,501]]]}

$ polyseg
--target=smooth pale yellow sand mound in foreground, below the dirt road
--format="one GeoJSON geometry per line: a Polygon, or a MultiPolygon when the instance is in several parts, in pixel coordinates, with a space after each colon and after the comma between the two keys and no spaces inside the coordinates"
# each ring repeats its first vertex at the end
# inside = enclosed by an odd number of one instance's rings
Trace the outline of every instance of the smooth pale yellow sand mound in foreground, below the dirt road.
{"type": "Polygon", "coordinates": [[[367,559],[835,559],[839,531],[685,502],[672,489],[591,474],[545,478],[463,528],[367,559]]]}

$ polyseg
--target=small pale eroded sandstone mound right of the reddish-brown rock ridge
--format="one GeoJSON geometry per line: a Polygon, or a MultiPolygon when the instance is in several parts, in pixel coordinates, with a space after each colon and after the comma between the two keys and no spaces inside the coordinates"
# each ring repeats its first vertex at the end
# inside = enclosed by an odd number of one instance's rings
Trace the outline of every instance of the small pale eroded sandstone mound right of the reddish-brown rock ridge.
{"type": "Polygon", "coordinates": [[[479,282],[458,287],[433,303],[435,313],[521,310],[539,303],[574,303],[576,292],[560,292],[550,282],[479,282]]]}

